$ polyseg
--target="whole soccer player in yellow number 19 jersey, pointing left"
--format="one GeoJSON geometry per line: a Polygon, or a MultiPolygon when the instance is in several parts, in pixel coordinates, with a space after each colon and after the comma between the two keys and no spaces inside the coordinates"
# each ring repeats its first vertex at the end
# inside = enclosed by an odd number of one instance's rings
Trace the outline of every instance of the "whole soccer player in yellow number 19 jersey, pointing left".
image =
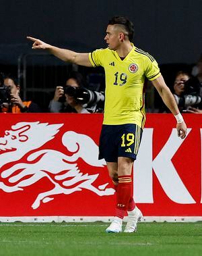
{"type": "Polygon", "coordinates": [[[99,159],[106,160],[109,176],[116,190],[116,214],[106,232],[122,232],[126,211],[129,220],[124,232],[135,232],[137,222],[143,216],[133,200],[131,170],[145,124],[145,78],[152,82],[176,118],[178,136],[185,138],[187,132],[187,126],[164,82],[158,63],[149,53],[131,43],[133,32],[133,24],[127,18],[112,18],[108,22],[104,38],[108,47],[92,53],[60,49],[28,36],[28,39],[34,41],[32,49],[47,49],[59,59],[81,66],[104,67],[106,99],[99,159]]]}

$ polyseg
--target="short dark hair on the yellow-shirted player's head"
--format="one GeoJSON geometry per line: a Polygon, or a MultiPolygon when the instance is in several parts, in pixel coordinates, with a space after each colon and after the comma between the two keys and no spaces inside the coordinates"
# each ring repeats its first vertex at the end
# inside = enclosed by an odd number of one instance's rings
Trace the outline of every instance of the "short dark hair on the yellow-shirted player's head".
{"type": "Polygon", "coordinates": [[[125,30],[128,33],[129,41],[133,40],[133,33],[134,33],[134,26],[133,22],[131,22],[128,18],[123,16],[115,16],[111,18],[108,22],[108,25],[123,25],[125,27],[125,30]]]}

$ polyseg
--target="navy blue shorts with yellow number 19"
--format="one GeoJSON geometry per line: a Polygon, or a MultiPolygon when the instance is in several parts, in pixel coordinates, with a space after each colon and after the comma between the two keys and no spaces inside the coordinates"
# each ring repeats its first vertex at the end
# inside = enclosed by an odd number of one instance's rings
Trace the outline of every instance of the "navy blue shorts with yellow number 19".
{"type": "Polygon", "coordinates": [[[141,142],[142,128],[137,124],[102,125],[99,159],[117,162],[118,157],[136,159],[141,142]]]}

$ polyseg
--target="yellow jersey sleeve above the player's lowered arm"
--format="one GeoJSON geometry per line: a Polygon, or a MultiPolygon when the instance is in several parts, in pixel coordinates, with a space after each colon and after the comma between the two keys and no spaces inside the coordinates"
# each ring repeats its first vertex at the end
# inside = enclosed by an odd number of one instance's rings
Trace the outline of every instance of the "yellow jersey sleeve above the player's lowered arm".
{"type": "Polygon", "coordinates": [[[146,59],[146,69],[145,69],[145,76],[148,80],[152,81],[158,78],[161,75],[160,69],[158,67],[158,63],[155,59],[146,59]]]}

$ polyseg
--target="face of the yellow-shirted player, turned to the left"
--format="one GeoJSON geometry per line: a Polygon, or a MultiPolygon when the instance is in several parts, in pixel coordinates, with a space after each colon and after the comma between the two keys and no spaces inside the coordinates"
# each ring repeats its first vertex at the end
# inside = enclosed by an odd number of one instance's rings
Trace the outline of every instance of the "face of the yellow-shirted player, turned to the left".
{"type": "Polygon", "coordinates": [[[117,30],[116,26],[108,25],[106,28],[106,36],[104,40],[108,44],[108,48],[110,50],[116,50],[120,46],[120,38],[119,38],[119,30],[117,30]]]}

